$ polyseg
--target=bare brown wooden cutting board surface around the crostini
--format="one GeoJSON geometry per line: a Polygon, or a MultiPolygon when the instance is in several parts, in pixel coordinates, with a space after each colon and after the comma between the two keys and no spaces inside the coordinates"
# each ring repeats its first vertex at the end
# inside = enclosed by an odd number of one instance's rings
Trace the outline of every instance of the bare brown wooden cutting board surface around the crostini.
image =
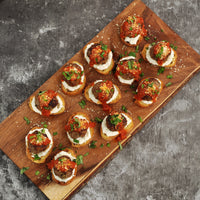
{"type": "MultiPolygon", "coordinates": [[[[82,50],[74,55],[70,61],[79,61],[83,64],[87,77],[87,85],[96,79],[109,79],[117,84],[122,92],[122,99],[115,105],[113,109],[120,111],[122,105],[126,106],[129,114],[133,117],[135,127],[132,133],[122,141],[126,144],[132,136],[141,129],[179,90],[186,84],[194,75],[200,70],[200,55],[198,55],[185,41],[183,41],[173,30],[171,30],[155,13],[153,13],[144,3],[140,0],[132,2],[124,11],[122,11],[113,21],[111,21],[92,41],[103,41],[105,44],[119,54],[126,54],[126,52],[135,52],[135,48],[127,47],[122,44],[119,38],[119,27],[122,21],[129,15],[139,15],[144,18],[145,26],[148,30],[148,41],[143,41],[139,45],[139,52],[142,50],[146,43],[152,43],[160,40],[167,40],[171,44],[177,46],[178,59],[176,66],[172,69],[166,69],[163,74],[157,75],[158,68],[151,66],[150,64],[142,61],[141,67],[144,72],[144,77],[153,76],[159,77],[164,84],[172,82],[172,85],[165,87],[159,96],[158,101],[149,108],[140,108],[133,102],[133,93],[129,86],[121,85],[114,76],[100,75],[94,69],[90,68],[83,58],[82,50]],[[156,40],[154,38],[157,38],[156,40]],[[173,79],[167,79],[166,76],[172,74],[173,79]],[[143,122],[138,120],[138,116],[141,116],[143,122]]],[[[137,58],[140,58],[139,52],[137,58]]],[[[49,80],[47,80],[37,91],[52,89],[60,93],[61,72],[63,67],[58,70],[49,80]]],[[[77,96],[67,96],[62,94],[66,102],[66,112],[58,116],[50,116],[48,118],[39,116],[31,111],[28,107],[28,100],[20,105],[10,116],[7,117],[0,124],[0,147],[5,154],[19,167],[29,167],[29,170],[25,174],[36,184],[42,192],[49,199],[66,199],[71,196],[75,191],[80,189],[97,170],[101,169],[104,164],[111,160],[114,153],[119,150],[118,143],[112,141],[110,147],[107,147],[107,142],[101,139],[99,128],[100,124],[95,127],[95,135],[93,140],[96,142],[96,148],[91,149],[88,146],[81,148],[72,148],[76,151],[77,155],[89,155],[84,156],[84,164],[78,166],[77,177],[74,181],[67,185],[61,186],[51,180],[47,180],[49,170],[46,164],[34,164],[25,155],[25,136],[29,130],[36,126],[42,126],[41,122],[48,124],[48,129],[51,133],[58,132],[54,137],[55,151],[53,151],[48,158],[47,162],[59,151],[59,148],[70,147],[71,145],[66,137],[64,126],[67,119],[71,114],[77,111],[87,113],[91,119],[95,117],[103,118],[106,114],[102,111],[101,106],[94,105],[86,101],[86,107],[81,109],[78,102],[84,99],[82,94],[77,96]],[[24,121],[24,116],[31,120],[29,125],[24,121]],[[62,147],[61,147],[62,144],[62,147]],[[104,144],[101,148],[100,145],[104,144]],[[35,175],[35,172],[39,170],[40,175],[35,175]],[[41,176],[42,175],[42,176],[41,176]]],[[[85,100],[85,99],[84,99],[85,100]]]]}

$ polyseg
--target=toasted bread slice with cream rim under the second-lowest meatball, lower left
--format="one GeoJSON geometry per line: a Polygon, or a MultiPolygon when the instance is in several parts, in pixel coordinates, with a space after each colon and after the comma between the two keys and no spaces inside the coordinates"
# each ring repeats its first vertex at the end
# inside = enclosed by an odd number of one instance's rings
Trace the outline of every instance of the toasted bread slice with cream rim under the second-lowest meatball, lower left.
{"type": "Polygon", "coordinates": [[[42,130],[42,129],[43,129],[43,128],[41,128],[41,127],[34,127],[34,128],[32,128],[32,129],[29,131],[29,133],[28,133],[27,136],[25,137],[26,156],[27,156],[32,162],[34,162],[34,163],[44,163],[44,162],[46,161],[47,157],[51,154],[52,149],[53,149],[53,138],[52,138],[50,132],[48,131],[48,129],[47,129],[47,128],[44,128],[45,133],[47,134],[47,137],[51,140],[51,142],[50,142],[50,144],[49,144],[49,147],[48,147],[48,151],[45,153],[44,156],[39,156],[40,159],[35,159],[35,158],[33,157],[32,152],[29,151],[29,148],[28,148],[28,135],[29,135],[30,133],[35,132],[36,130],[42,130]],[[46,131],[48,131],[48,132],[46,132],[46,131]]]}

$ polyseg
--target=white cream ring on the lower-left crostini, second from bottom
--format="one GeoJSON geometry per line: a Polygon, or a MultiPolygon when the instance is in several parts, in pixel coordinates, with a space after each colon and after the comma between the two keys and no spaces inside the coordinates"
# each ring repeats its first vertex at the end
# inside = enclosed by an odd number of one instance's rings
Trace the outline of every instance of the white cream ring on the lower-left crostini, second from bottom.
{"type": "MultiPolygon", "coordinates": [[[[34,129],[34,130],[29,131],[29,133],[28,133],[27,136],[25,137],[26,146],[28,146],[28,135],[34,133],[35,131],[41,132],[42,129],[44,129],[44,134],[47,135],[47,137],[48,137],[49,140],[50,140],[50,143],[49,143],[49,146],[48,146],[47,149],[45,149],[44,151],[41,151],[40,153],[37,154],[40,158],[43,157],[43,156],[46,156],[47,153],[49,152],[49,150],[52,148],[52,145],[53,145],[53,139],[52,139],[52,136],[51,136],[49,130],[48,130],[47,128],[37,128],[37,129],[34,129]]],[[[34,155],[35,155],[35,154],[32,153],[31,156],[34,158],[34,155]]]]}

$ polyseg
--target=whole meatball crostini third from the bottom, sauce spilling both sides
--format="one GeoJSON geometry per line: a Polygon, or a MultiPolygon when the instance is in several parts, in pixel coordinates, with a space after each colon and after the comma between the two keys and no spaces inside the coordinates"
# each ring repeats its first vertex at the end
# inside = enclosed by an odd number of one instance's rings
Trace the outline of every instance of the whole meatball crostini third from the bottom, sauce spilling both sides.
{"type": "Polygon", "coordinates": [[[74,147],[87,145],[94,135],[95,123],[82,112],[73,114],[65,125],[65,130],[69,141],[74,147]]]}

